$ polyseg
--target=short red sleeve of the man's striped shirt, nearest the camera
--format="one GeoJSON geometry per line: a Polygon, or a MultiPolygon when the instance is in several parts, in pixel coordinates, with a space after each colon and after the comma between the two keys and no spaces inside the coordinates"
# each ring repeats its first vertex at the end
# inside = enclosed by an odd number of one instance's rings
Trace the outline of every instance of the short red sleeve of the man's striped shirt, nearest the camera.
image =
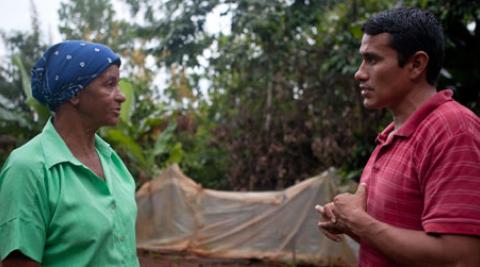
{"type": "Polygon", "coordinates": [[[480,137],[452,135],[429,157],[420,168],[426,232],[480,236],[480,137]]]}

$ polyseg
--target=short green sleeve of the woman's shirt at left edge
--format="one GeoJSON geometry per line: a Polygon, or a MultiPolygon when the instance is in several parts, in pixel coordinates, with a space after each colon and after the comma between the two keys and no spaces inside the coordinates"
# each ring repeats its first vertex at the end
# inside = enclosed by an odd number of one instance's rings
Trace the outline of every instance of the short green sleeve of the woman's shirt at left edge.
{"type": "Polygon", "coordinates": [[[19,250],[41,262],[48,218],[43,168],[12,157],[0,173],[0,259],[19,250]]]}

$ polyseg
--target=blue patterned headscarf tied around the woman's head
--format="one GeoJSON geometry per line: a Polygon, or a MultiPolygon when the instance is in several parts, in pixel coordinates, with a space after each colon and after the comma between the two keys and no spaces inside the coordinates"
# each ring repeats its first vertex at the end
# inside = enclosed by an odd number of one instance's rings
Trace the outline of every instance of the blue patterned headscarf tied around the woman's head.
{"type": "Polygon", "coordinates": [[[32,68],[32,94],[50,110],[56,110],[85,89],[120,57],[109,47],[80,40],[51,46],[32,68]]]}

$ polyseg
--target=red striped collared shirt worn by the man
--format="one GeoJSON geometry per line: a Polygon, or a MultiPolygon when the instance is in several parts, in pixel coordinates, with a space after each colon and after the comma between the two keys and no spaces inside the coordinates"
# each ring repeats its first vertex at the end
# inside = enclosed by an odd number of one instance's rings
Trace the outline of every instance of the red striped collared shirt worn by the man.
{"type": "MultiPolygon", "coordinates": [[[[480,119],[444,90],[389,137],[378,135],[362,173],[367,212],[427,233],[480,236],[480,119]]],[[[399,266],[361,244],[359,266],[399,266]]]]}

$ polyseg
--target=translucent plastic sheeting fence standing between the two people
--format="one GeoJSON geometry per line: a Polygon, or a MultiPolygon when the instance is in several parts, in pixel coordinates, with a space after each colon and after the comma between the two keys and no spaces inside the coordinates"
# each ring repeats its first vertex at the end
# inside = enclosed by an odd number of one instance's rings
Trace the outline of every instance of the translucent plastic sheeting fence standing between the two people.
{"type": "Polygon", "coordinates": [[[137,192],[137,246],[214,258],[355,266],[354,241],[336,243],[317,229],[314,206],[334,193],[329,172],[283,191],[226,192],[204,189],[172,166],[137,192]]]}

